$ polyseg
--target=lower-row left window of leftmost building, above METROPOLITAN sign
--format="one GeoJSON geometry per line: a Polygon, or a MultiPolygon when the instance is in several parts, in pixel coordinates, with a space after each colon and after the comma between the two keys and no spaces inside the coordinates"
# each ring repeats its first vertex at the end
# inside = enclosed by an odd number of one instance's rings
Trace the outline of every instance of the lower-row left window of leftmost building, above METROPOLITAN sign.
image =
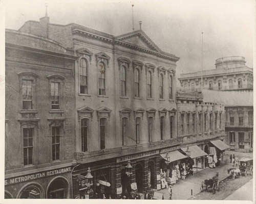
{"type": "Polygon", "coordinates": [[[23,128],[23,162],[33,164],[33,128],[23,128]]]}

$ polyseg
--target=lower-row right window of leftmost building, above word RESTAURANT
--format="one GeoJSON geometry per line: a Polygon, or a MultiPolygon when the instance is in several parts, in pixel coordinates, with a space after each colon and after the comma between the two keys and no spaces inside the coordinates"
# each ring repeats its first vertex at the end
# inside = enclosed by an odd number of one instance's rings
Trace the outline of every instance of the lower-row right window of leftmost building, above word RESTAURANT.
{"type": "Polygon", "coordinates": [[[60,160],[60,127],[52,127],[52,161],[60,160]]]}

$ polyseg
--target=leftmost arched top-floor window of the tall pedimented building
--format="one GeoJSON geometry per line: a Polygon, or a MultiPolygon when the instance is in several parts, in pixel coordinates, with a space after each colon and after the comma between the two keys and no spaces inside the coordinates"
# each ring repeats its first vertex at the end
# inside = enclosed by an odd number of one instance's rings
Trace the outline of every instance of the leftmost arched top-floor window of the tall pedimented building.
{"type": "Polygon", "coordinates": [[[82,58],[80,59],[80,94],[88,94],[88,70],[87,61],[82,58]]]}

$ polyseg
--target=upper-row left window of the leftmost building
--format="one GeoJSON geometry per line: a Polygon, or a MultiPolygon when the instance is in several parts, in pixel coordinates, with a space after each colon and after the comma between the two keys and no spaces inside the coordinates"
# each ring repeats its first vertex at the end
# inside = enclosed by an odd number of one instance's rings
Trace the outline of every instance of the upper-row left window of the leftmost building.
{"type": "Polygon", "coordinates": [[[22,109],[31,110],[33,109],[33,81],[22,80],[22,109]]]}

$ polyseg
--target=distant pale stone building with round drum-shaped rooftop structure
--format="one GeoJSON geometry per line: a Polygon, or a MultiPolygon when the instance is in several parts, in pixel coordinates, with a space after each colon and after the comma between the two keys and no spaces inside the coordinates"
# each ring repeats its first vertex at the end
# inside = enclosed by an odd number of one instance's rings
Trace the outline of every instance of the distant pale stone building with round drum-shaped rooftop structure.
{"type": "Polygon", "coordinates": [[[244,57],[216,60],[215,70],[181,74],[183,92],[201,92],[204,99],[225,105],[225,143],[230,149],[251,151],[253,147],[253,70],[244,57]]]}

